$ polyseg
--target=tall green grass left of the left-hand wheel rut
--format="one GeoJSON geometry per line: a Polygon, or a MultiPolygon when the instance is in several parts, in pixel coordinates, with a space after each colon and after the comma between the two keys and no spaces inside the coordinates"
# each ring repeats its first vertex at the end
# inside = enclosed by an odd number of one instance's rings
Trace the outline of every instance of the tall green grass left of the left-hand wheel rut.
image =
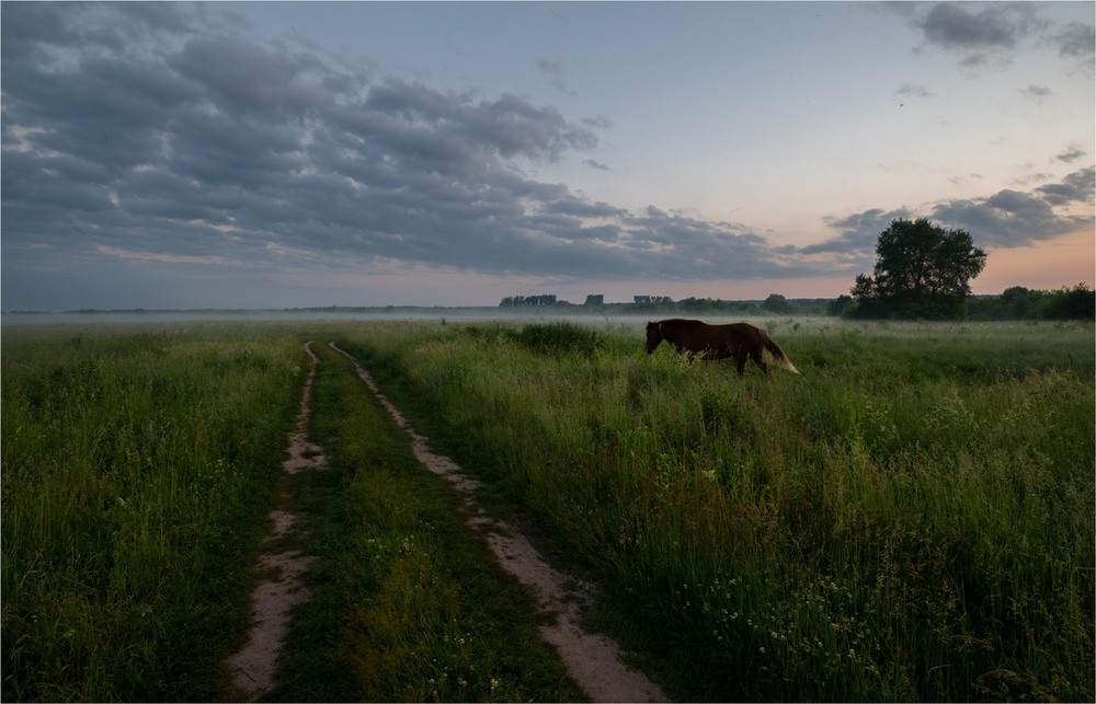
{"type": "Polygon", "coordinates": [[[3,699],[216,696],[298,344],[5,327],[2,351],[3,699]]]}

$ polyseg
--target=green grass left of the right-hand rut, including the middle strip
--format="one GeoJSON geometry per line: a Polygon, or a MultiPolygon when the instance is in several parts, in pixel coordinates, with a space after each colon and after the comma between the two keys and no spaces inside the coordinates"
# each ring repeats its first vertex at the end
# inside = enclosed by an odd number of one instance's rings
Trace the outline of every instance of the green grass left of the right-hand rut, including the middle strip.
{"type": "Polygon", "coordinates": [[[275,506],[304,517],[282,546],[318,559],[265,699],[581,699],[453,489],[322,344],[330,466],[282,471],[301,334],[4,330],[4,701],[232,699],[275,506]]]}

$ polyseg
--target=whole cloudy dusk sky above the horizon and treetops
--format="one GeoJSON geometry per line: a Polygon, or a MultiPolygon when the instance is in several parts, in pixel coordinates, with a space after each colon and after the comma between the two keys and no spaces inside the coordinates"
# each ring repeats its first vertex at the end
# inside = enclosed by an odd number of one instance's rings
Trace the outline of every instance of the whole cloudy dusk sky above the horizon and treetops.
{"type": "Polygon", "coordinates": [[[0,4],[3,310],[1089,286],[1093,2],[0,4]]]}

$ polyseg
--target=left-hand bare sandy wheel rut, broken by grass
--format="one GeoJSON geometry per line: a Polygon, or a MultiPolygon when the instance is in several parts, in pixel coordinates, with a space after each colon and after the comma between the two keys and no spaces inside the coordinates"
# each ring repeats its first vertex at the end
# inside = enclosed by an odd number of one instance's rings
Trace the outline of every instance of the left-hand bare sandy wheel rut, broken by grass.
{"type": "MultiPolygon", "coordinates": [[[[308,441],[307,427],[311,415],[312,382],[316,379],[316,367],[320,361],[312,353],[311,344],[305,344],[305,351],[312,358],[312,367],[301,394],[297,425],[289,434],[289,447],[286,449],[289,459],[282,464],[289,474],[323,469],[327,463],[320,447],[308,441]]],[[[288,497],[283,497],[283,503],[287,499],[288,497]]],[[[282,508],[271,511],[270,519],[273,527],[265,541],[276,543],[294,529],[299,518],[299,513],[282,508]]],[[[248,643],[242,650],[228,658],[228,663],[232,668],[232,686],[242,692],[249,702],[255,701],[274,686],[274,668],[289,624],[289,611],[311,599],[311,593],[301,582],[300,576],[312,559],[297,551],[271,551],[263,553],[259,558],[269,577],[251,595],[254,605],[251,610],[251,632],[248,643]]]]}

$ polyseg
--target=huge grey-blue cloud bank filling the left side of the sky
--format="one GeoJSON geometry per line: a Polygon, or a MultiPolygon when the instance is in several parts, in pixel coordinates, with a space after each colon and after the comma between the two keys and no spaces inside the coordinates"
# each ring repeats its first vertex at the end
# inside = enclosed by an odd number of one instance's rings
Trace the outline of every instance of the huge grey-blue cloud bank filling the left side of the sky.
{"type": "Polygon", "coordinates": [[[602,117],[260,46],[216,4],[0,8],[9,266],[65,253],[600,279],[806,270],[740,227],[526,176],[596,147],[602,117]]]}

